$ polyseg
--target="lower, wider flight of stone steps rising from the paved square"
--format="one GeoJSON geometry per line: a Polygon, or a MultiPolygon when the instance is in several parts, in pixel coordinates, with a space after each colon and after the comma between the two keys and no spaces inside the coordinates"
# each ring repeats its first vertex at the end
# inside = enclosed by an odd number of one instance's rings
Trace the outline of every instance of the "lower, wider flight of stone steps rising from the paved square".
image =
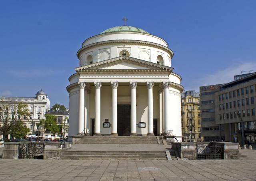
{"type": "Polygon", "coordinates": [[[62,151],[60,159],[167,160],[165,151],[62,151]]]}

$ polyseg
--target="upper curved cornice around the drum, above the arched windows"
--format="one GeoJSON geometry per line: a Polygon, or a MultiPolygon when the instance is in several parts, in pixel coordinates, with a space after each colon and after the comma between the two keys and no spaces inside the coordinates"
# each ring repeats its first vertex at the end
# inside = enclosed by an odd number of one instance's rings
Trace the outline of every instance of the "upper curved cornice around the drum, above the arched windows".
{"type": "Polygon", "coordinates": [[[144,44],[144,45],[154,46],[154,47],[158,47],[158,48],[161,48],[161,49],[169,52],[171,54],[171,59],[174,56],[172,50],[166,46],[156,44],[153,42],[146,42],[146,41],[140,41],[140,40],[108,40],[108,41],[97,42],[97,43],[89,44],[89,45],[86,45],[86,46],[80,48],[78,50],[78,52],[76,53],[76,56],[79,58],[80,53],[82,51],[86,50],[87,48],[92,48],[92,47],[104,45],[104,44],[117,44],[117,43],[118,44],[144,44]]]}

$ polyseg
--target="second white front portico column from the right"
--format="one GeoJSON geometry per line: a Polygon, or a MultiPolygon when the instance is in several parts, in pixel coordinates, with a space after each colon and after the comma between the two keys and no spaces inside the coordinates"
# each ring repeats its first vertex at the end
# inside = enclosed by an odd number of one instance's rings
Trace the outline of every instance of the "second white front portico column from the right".
{"type": "Polygon", "coordinates": [[[147,82],[148,86],[148,136],[154,136],[153,131],[153,87],[154,82],[147,82]]]}

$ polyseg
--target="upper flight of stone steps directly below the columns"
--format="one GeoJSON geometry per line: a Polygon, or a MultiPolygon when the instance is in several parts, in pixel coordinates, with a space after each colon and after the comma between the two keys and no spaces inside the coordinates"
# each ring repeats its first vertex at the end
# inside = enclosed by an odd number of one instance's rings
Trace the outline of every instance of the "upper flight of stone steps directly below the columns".
{"type": "MultiPolygon", "coordinates": [[[[157,136],[85,136],[77,144],[159,144],[157,136]]],[[[162,144],[162,140],[160,141],[162,144]]]]}

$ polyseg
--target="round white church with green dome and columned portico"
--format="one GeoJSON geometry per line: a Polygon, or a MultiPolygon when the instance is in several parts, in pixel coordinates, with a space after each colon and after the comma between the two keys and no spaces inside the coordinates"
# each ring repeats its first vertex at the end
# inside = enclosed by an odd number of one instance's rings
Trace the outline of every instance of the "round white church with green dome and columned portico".
{"type": "Polygon", "coordinates": [[[181,77],[162,38],[116,26],[86,39],[69,77],[69,136],[151,136],[181,141],[181,77]]]}

